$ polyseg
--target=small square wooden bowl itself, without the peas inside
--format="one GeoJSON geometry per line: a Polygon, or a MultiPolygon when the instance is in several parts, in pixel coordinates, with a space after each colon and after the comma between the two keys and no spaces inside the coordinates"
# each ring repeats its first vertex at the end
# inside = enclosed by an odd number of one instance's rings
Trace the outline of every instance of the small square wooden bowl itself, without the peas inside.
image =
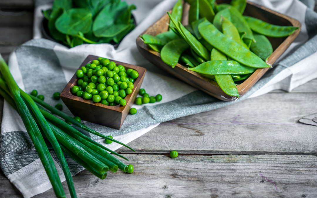
{"type": "MultiPolygon", "coordinates": [[[[81,63],[81,67],[85,67],[85,65],[93,60],[97,60],[98,56],[89,55],[87,58],[81,63]]],[[[110,59],[109,59],[110,60],[110,59]]],[[[82,120],[86,120],[88,122],[92,122],[99,125],[107,125],[114,129],[120,129],[126,116],[128,115],[131,106],[133,105],[139,90],[144,79],[144,75],[146,72],[146,68],[139,67],[136,65],[130,65],[127,63],[110,60],[116,63],[116,65],[123,65],[126,69],[134,69],[139,73],[139,77],[133,83],[134,88],[132,89],[132,93],[126,95],[126,105],[116,105],[116,106],[108,106],[103,105],[99,102],[94,102],[92,100],[86,100],[81,97],[73,95],[70,90],[71,87],[77,85],[78,78],[76,77],[76,73],[69,80],[68,84],[65,86],[63,91],[61,92],[61,99],[68,107],[68,109],[75,115],[79,116],[82,120]]]]}

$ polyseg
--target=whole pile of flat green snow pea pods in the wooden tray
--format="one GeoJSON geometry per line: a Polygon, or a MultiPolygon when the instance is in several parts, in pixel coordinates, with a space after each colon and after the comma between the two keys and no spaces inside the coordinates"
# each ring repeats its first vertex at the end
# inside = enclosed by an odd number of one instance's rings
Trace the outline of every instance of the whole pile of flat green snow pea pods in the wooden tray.
{"type": "Polygon", "coordinates": [[[217,4],[215,0],[185,0],[190,3],[187,26],[181,24],[183,4],[178,0],[170,17],[169,30],[156,36],[140,35],[167,65],[185,63],[216,81],[224,93],[239,98],[236,83],[247,79],[267,63],[273,48],[268,37],[285,37],[298,27],[269,24],[243,16],[246,0],[217,4]],[[238,81],[238,82],[237,82],[238,81]]]}

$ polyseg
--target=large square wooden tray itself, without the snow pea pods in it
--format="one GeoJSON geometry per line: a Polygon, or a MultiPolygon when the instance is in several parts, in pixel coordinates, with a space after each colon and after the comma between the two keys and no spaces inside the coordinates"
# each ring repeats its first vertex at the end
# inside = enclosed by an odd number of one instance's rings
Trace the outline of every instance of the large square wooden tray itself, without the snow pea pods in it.
{"type": "MultiPolygon", "coordinates": [[[[217,0],[217,3],[230,3],[230,0],[217,0]]],[[[182,24],[188,24],[188,12],[190,5],[188,3],[184,3],[183,7],[183,19],[182,24]]],[[[269,10],[260,5],[257,5],[252,2],[247,2],[247,6],[243,15],[252,16],[262,21],[281,26],[295,26],[301,28],[301,23],[296,19],[293,19],[289,16],[280,14],[273,10],[269,10]]],[[[159,33],[165,32],[168,30],[168,23],[170,22],[170,18],[167,14],[162,16],[157,22],[155,22],[151,27],[146,29],[143,34],[149,35],[157,35],[159,33]]],[[[288,46],[295,40],[297,35],[299,34],[300,29],[297,29],[293,34],[282,37],[282,38],[272,38],[268,37],[268,40],[271,42],[273,47],[273,54],[268,58],[268,63],[273,65],[273,63],[283,54],[283,52],[288,48],[288,46]]],[[[218,99],[224,101],[232,101],[237,99],[235,96],[229,96],[225,94],[217,82],[210,80],[199,73],[194,71],[190,71],[187,67],[184,67],[181,64],[177,64],[174,68],[164,63],[161,59],[160,53],[149,48],[140,37],[136,39],[136,43],[141,54],[150,62],[152,62],[157,67],[164,69],[165,71],[173,74],[180,80],[190,84],[191,86],[196,87],[218,99]]],[[[246,92],[251,89],[251,87],[264,75],[269,68],[259,68],[257,69],[247,80],[245,80],[242,84],[237,85],[237,89],[239,91],[240,96],[243,96],[246,92]]]]}

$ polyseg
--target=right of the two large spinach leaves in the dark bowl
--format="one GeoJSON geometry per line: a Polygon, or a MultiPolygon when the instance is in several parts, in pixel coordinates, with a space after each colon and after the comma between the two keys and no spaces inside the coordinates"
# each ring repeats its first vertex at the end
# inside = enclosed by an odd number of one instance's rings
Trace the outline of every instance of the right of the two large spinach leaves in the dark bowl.
{"type": "Polygon", "coordinates": [[[128,6],[126,2],[108,4],[97,15],[93,24],[93,33],[97,37],[113,37],[129,28],[131,10],[135,6],[128,6]]]}

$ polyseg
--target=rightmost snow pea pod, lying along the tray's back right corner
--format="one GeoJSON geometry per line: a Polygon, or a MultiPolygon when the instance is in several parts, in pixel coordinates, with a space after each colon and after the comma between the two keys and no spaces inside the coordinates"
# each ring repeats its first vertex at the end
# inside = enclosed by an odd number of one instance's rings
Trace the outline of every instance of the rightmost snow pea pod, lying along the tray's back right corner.
{"type": "Polygon", "coordinates": [[[299,27],[272,25],[251,16],[244,16],[250,28],[262,35],[270,37],[284,37],[293,34],[299,27]]]}

